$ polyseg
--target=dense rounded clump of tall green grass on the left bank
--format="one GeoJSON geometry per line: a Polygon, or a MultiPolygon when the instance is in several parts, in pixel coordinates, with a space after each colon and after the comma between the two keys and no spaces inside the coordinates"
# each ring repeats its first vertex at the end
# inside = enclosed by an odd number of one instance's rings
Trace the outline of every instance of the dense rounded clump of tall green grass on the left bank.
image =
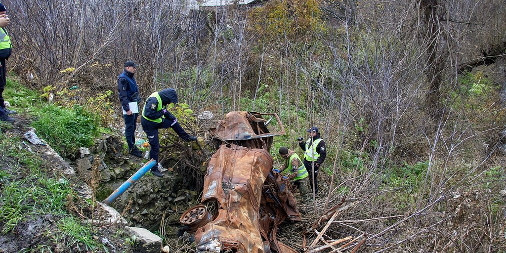
{"type": "Polygon", "coordinates": [[[37,135],[60,155],[72,156],[80,147],[92,146],[99,135],[96,116],[77,104],[73,109],[46,105],[37,114],[39,118],[33,122],[37,135]]]}

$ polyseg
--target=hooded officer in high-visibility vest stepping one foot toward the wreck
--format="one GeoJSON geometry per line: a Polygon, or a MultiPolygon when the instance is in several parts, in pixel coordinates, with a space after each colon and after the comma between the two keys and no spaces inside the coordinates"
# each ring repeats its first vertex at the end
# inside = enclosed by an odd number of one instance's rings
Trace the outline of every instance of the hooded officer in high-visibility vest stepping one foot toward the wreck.
{"type": "MultiPolygon", "coordinates": [[[[160,141],[158,139],[158,129],[172,128],[184,141],[195,141],[196,136],[191,136],[179,124],[176,116],[165,109],[167,104],[178,103],[178,94],[174,89],[165,89],[151,94],[142,109],[141,124],[146,132],[151,147],[150,156],[158,162],[158,153],[160,152],[160,141]]],[[[158,166],[151,169],[151,173],[157,177],[163,177],[158,170],[158,166]]]]}

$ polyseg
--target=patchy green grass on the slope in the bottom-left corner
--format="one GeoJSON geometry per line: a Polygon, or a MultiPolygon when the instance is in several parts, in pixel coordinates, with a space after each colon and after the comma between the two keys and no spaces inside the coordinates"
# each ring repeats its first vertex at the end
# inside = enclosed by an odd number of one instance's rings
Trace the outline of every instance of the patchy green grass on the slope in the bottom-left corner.
{"type": "MultiPolygon", "coordinates": [[[[0,163],[10,171],[0,171],[0,230],[3,234],[30,218],[52,215],[59,218],[60,232],[47,231],[50,245],[37,245],[31,251],[51,252],[51,245],[95,251],[103,246],[93,240],[91,225],[83,225],[69,214],[67,199],[73,196],[70,183],[54,175],[34,153],[19,149],[21,141],[0,134],[0,163]],[[15,175],[12,175],[16,172],[15,175]]],[[[91,206],[89,202],[85,202],[91,206]]],[[[58,220],[58,219],[57,219],[58,220]]]]}

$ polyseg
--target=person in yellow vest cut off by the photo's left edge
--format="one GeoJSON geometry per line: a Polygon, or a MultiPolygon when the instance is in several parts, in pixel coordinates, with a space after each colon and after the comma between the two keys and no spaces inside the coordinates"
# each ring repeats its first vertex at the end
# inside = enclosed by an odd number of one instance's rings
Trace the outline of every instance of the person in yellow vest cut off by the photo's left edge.
{"type": "Polygon", "coordinates": [[[5,28],[9,24],[9,17],[6,13],[7,9],[3,4],[0,4],[0,19],[2,19],[2,22],[0,22],[0,120],[12,122],[14,118],[9,117],[9,114],[17,114],[17,112],[6,108],[2,96],[7,83],[6,62],[12,53],[11,37],[5,28]]]}

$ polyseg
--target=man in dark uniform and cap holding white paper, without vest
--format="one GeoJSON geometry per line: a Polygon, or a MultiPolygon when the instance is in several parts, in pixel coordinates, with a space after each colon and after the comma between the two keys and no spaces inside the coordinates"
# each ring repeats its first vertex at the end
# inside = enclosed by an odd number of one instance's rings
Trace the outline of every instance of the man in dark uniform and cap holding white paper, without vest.
{"type": "Polygon", "coordinates": [[[125,120],[125,138],[126,144],[128,144],[128,152],[137,157],[142,157],[141,151],[135,146],[135,130],[137,129],[137,116],[139,115],[138,104],[135,105],[137,108],[130,108],[132,102],[141,102],[141,96],[139,95],[139,88],[137,88],[137,82],[135,81],[134,73],[137,71],[139,65],[133,61],[125,62],[124,69],[118,76],[118,95],[123,112],[123,118],[125,120]],[[134,113],[134,109],[137,111],[134,113]]]}

